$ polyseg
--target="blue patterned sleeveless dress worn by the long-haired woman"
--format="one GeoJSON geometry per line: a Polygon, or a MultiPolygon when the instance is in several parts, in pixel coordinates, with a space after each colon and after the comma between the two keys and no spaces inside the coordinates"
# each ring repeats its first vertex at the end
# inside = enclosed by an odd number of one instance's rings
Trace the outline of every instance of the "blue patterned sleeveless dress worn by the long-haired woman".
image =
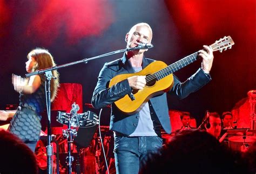
{"type": "Polygon", "coordinates": [[[19,107],[10,122],[9,131],[24,142],[38,141],[41,132],[41,113],[44,108],[45,88],[42,82],[36,92],[19,95],[19,107]]]}

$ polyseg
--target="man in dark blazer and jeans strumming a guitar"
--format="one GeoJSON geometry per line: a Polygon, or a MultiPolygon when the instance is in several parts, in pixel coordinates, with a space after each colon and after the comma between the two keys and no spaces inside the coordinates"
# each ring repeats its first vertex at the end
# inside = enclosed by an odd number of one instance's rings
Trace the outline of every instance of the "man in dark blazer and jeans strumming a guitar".
{"type": "MultiPolygon", "coordinates": [[[[150,44],[151,40],[152,29],[146,23],[134,25],[125,35],[127,48],[142,43],[150,44]]],[[[117,173],[138,173],[142,159],[162,146],[161,126],[166,133],[171,133],[166,93],[151,98],[139,112],[130,115],[121,112],[114,104],[125,95],[132,98],[133,90],[142,90],[146,85],[145,76],[130,76],[109,88],[109,82],[113,77],[136,73],[152,63],[154,60],[144,56],[146,51],[147,49],[135,49],[124,53],[118,60],[105,63],[100,70],[92,96],[92,105],[95,108],[109,104],[112,107],[110,129],[114,132],[117,173]]],[[[202,63],[198,71],[183,83],[173,76],[174,85],[168,93],[183,99],[211,81],[209,73],[213,62],[213,51],[210,47],[204,46],[204,50],[199,50],[199,56],[202,58],[202,63]]]]}

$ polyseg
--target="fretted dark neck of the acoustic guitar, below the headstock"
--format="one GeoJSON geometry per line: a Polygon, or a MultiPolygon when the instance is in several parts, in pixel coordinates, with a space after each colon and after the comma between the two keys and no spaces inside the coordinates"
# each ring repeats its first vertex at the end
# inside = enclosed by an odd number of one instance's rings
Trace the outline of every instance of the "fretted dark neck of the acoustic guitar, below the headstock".
{"type": "Polygon", "coordinates": [[[172,73],[174,73],[175,71],[178,71],[179,69],[186,67],[188,64],[196,61],[198,59],[198,52],[193,53],[191,55],[188,55],[186,57],[184,57],[183,59],[170,64],[170,66],[167,66],[164,69],[161,69],[160,71],[157,71],[156,73],[154,73],[154,76],[156,76],[157,80],[160,80],[161,78],[164,78],[172,73]]]}

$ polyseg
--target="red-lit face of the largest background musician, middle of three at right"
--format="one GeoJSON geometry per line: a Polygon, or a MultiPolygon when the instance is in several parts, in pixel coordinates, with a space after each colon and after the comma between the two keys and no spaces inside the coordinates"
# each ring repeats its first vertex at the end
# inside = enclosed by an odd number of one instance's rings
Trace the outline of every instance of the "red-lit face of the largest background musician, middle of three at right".
{"type": "Polygon", "coordinates": [[[218,138],[220,136],[220,131],[221,131],[221,120],[220,118],[215,118],[210,116],[209,117],[209,122],[211,127],[206,128],[206,132],[210,133],[211,135],[215,136],[218,138]]]}

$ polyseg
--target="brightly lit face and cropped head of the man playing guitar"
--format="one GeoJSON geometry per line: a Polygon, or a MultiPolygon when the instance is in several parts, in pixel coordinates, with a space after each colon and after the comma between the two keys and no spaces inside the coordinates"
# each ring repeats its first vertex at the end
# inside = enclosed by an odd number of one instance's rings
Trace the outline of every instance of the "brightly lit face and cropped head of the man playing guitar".
{"type": "MultiPolygon", "coordinates": [[[[125,40],[127,42],[127,48],[133,48],[138,46],[139,43],[150,44],[152,40],[152,33],[149,27],[146,25],[139,25],[132,27],[130,32],[126,34],[125,40]]],[[[136,49],[133,52],[144,53],[147,49],[136,49]]]]}

